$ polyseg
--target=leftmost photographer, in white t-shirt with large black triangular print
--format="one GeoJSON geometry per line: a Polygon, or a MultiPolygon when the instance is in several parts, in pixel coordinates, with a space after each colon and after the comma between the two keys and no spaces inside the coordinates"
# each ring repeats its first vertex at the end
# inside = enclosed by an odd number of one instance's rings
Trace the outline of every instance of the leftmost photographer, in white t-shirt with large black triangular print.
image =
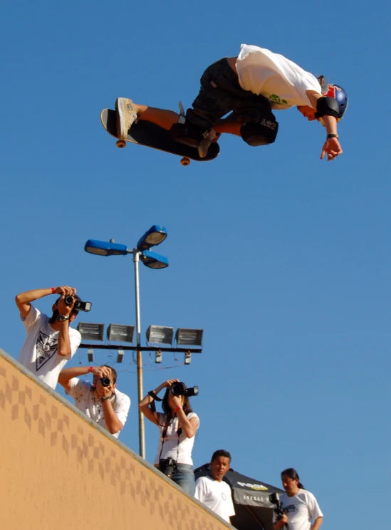
{"type": "Polygon", "coordinates": [[[54,390],[61,368],[75,354],[81,341],[80,333],[71,328],[70,323],[79,309],[89,311],[90,304],[80,301],[76,289],[67,285],[26,291],[18,294],[15,301],[27,333],[19,363],[54,390]],[[51,317],[31,305],[49,294],[60,295],[53,303],[51,317]]]}

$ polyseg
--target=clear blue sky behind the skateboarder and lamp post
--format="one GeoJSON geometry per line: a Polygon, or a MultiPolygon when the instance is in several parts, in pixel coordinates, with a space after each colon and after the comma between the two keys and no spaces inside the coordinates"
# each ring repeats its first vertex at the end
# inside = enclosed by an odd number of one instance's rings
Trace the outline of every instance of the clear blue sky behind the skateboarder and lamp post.
{"type": "MultiPolygon", "coordinates": [[[[244,4],[26,0],[3,3],[0,130],[1,347],[24,328],[16,293],[69,284],[93,302],[84,321],[135,323],[130,257],[83,251],[90,238],[133,246],[167,227],[170,267],[140,270],[142,337],[150,323],[204,328],[181,366],[145,355],[145,392],[199,385],[194,463],[229,450],[239,472],[279,484],[295,467],[325,530],[385,526],[390,499],[390,86],[385,2],[244,4]],[[325,131],[295,109],[278,139],[221,139],[214,162],[128,145],[100,125],[115,98],[187,107],[204,68],[241,43],[270,48],[347,90],[344,153],[321,162],[325,131]]],[[[51,298],[37,303],[49,311],[51,298]]],[[[72,362],[86,364],[85,350],[72,362]]],[[[115,357],[115,352],[113,353],[115,357]]],[[[109,360],[96,355],[98,362],[109,360]]],[[[182,363],[182,355],[178,355],[182,363]]],[[[138,450],[130,395],[120,440],[138,450]]],[[[147,459],[157,429],[146,425],[147,459]]]]}

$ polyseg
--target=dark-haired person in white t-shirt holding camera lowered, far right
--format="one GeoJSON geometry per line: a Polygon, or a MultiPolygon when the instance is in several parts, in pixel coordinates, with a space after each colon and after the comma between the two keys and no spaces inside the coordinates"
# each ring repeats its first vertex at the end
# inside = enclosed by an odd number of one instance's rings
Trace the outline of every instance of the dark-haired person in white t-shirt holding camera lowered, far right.
{"type": "Polygon", "coordinates": [[[323,513],[315,496],[304,489],[296,469],[289,467],[281,473],[283,489],[281,518],[273,516],[273,529],[281,530],[287,525],[289,530],[319,530],[323,522],[323,513]]]}

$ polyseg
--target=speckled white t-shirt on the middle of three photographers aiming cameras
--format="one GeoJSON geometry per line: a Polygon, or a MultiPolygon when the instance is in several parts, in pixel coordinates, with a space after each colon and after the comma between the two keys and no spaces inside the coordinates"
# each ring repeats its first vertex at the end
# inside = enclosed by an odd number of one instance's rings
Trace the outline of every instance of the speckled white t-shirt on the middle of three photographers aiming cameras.
{"type": "MultiPolygon", "coordinates": [[[[103,415],[102,403],[95,398],[95,393],[92,388],[93,385],[88,383],[88,381],[83,381],[78,378],[73,378],[69,382],[71,385],[70,390],[66,390],[66,395],[71,395],[75,400],[75,405],[78,407],[81,412],[91,418],[94,422],[99,423],[100,427],[108,430],[108,426],[105,422],[105,416],[103,415]]],[[[130,398],[126,394],[120,392],[115,388],[114,390],[115,400],[113,399],[112,405],[115,412],[115,415],[118,417],[118,420],[125,425],[127,414],[130,409],[130,398]]],[[[115,432],[113,436],[118,438],[121,431],[115,432]]]]}

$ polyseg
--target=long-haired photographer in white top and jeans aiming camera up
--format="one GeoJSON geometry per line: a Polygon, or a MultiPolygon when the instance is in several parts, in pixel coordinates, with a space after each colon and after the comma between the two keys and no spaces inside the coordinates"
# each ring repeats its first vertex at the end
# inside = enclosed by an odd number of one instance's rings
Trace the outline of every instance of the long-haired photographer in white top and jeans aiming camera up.
{"type": "Polygon", "coordinates": [[[187,388],[179,380],[169,379],[149,392],[139,405],[142,414],[159,427],[155,467],[190,496],[194,495],[192,449],[199,417],[192,411],[189,396],[197,394],[198,387],[187,388]],[[157,394],[163,388],[165,396],[160,399],[157,394]],[[163,414],[156,412],[155,400],[162,401],[163,414]]]}

